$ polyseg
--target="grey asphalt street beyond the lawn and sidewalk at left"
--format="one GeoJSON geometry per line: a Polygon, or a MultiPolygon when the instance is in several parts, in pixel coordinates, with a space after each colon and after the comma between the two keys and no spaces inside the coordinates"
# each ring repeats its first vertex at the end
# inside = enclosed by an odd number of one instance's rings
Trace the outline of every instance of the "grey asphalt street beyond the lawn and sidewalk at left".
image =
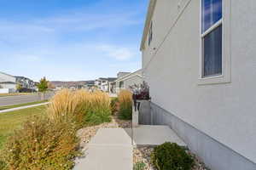
{"type": "MultiPolygon", "coordinates": [[[[52,93],[45,94],[45,99],[50,99],[53,95],[52,93]]],[[[26,104],[40,100],[41,95],[38,94],[0,97],[0,106],[26,104]]]]}

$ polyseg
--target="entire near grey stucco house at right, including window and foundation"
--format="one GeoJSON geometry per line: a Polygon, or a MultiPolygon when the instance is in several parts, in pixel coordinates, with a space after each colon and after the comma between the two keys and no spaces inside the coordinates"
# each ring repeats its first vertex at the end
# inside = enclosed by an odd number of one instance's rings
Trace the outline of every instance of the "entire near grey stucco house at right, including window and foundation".
{"type": "Polygon", "coordinates": [[[256,169],[256,1],[151,0],[143,78],[153,124],[212,170],[256,169]]]}

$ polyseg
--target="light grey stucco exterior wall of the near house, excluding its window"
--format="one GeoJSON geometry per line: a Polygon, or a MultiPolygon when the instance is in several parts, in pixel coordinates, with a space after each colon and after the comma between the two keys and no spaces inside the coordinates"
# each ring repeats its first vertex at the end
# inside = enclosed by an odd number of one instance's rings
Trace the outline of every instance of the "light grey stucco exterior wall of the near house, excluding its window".
{"type": "Polygon", "coordinates": [[[197,0],[157,1],[152,18],[153,41],[150,47],[146,41],[142,50],[143,75],[150,87],[152,107],[162,109],[154,116],[154,123],[172,127],[172,118],[177,118],[181,123],[176,131],[190,142],[191,150],[208,154],[197,152],[212,170],[253,170],[256,169],[256,95],[253,94],[256,2],[231,2],[230,40],[225,40],[230,42],[229,83],[198,83],[201,32],[197,0]],[[169,119],[163,118],[164,112],[169,113],[169,119]],[[182,124],[194,129],[193,134],[200,133],[199,139],[193,139],[196,136],[182,129],[182,124]],[[199,140],[201,143],[195,144],[199,140]],[[209,142],[218,146],[207,147],[209,142]],[[221,147],[230,152],[218,159],[221,147]],[[229,167],[232,158],[241,159],[240,166],[229,167]]]}

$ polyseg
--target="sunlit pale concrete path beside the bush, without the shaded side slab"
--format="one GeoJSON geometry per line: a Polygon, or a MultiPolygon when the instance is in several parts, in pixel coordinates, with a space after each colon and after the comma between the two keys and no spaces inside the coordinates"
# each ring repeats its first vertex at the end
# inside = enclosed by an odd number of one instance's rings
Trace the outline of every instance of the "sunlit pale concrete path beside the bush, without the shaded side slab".
{"type": "Polygon", "coordinates": [[[73,169],[132,170],[131,129],[99,129],[73,169]]]}

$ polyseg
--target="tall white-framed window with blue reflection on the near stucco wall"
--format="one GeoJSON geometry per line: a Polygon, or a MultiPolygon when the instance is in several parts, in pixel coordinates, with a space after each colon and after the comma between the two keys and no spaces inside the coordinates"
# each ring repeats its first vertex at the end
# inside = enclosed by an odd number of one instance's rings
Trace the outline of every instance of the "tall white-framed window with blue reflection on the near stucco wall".
{"type": "Polygon", "coordinates": [[[201,0],[201,78],[223,74],[223,0],[201,0]]]}

